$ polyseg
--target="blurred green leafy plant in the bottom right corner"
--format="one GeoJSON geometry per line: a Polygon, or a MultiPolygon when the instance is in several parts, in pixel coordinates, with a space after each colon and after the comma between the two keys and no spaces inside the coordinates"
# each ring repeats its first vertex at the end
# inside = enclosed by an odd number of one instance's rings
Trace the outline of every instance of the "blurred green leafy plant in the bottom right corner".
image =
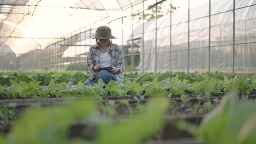
{"type": "Polygon", "coordinates": [[[256,102],[240,101],[237,94],[226,95],[199,126],[177,120],[176,126],[200,138],[202,144],[255,144],[256,102]]]}

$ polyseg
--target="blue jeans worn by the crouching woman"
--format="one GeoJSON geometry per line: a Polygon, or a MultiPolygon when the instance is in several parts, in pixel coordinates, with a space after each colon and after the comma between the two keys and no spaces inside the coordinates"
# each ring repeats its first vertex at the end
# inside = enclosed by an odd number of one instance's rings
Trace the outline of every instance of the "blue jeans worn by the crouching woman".
{"type": "Polygon", "coordinates": [[[108,70],[101,70],[98,74],[99,78],[92,79],[91,82],[87,83],[86,86],[92,85],[98,82],[98,79],[102,79],[104,83],[108,84],[110,80],[116,80],[115,74],[111,73],[108,70]]]}

